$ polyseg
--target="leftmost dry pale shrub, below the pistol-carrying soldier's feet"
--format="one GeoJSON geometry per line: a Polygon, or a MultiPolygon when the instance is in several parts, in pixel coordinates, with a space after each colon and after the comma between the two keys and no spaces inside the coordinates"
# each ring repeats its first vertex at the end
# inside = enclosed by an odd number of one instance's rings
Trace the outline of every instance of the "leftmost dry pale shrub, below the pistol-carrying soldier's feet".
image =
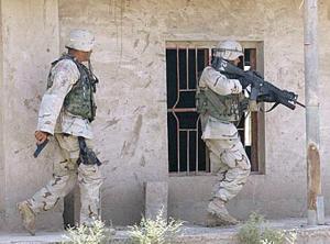
{"type": "Polygon", "coordinates": [[[100,220],[95,220],[90,226],[84,224],[77,228],[70,228],[67,230],[64,236],[67,241],[63,244],[106,244],[113,235],[111,229],[107,229],[106,224],[100,220]]]}

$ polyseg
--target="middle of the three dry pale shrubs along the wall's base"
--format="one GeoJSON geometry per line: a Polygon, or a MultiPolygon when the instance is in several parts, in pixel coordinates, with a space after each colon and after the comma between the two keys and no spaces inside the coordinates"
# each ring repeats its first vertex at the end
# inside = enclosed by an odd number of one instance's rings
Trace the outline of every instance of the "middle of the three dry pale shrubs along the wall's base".
{"type": "Polygon", "coordinates": [[[130,226],[129,234],[134,244],[169,244],[179,233],[183,223],[174,219],[167,222],[161,210],[155,220],[142,217],[139,225],[130,226]]]}

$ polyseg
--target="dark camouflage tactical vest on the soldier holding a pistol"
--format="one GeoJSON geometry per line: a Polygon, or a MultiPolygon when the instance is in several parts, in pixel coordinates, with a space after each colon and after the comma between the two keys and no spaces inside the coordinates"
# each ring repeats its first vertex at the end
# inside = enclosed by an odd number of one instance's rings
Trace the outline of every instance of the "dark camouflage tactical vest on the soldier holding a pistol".
{"type": "MultiPolygon", "coordinates": [[[[70,59],[76,65],[80,73],[80,77],[73,86],[70,91],[64,99],[64,109],[74,115],[94,121],[96,115],[96,103],[94,93],[96,92],[96,84],[98,79],[91,74],[91,71],[82,64],[78,63],[73,56],[64,55],[58,60],[52,63],[52,68],[63,59],[70,59]]],[[[52,69],[51,69],[52,70],[52,69]]],[[[51,79],[51,73],[47,80],[47,89],[53,86],[51,79]]]]}

